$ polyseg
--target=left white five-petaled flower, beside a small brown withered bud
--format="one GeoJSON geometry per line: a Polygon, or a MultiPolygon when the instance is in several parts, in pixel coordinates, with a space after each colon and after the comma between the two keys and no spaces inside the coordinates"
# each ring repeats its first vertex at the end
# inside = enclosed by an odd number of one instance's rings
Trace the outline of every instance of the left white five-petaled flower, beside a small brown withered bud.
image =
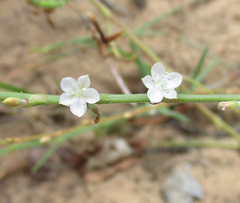
{"type": "Polygon", "coordinates": [[[72,77],[63,78],[60,87],[65,92],[60,96],[59,104],[70,106],[70,111],[81,117],[87,111],[87,104],[94,104],[100,100],[97,90],[88,88],[91,81],[88,75],[83,75],[76,81],[72,77]]]}

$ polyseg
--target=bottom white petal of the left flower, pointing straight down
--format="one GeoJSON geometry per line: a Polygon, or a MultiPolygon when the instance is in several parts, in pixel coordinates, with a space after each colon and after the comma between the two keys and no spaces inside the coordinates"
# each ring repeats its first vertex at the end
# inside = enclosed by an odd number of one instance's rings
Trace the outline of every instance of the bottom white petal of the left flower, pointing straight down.
{"type": "Polygon", "coordinates": [[[70,106],[70,111],[78,117],[81,117],[83,114],[85,114],[87,111],[87,104],[84,99],[75,97],[70,106]]]}

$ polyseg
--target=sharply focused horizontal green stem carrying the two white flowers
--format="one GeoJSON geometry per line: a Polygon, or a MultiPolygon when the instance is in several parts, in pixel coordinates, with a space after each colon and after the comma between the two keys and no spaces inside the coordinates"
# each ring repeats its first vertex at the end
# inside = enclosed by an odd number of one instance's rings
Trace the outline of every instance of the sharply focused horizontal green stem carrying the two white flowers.
{"type": "MultiPolygon", "coordinates": [[[[21,94],[16,92],[0,92],[0,101],[13,97],[27,101],[25,107],[37,106],[41,104],[59,103],[58,95],[44,94],[21,94]]],[[[240,101],[240,95],[224,94],[178,94],[177,99],[163,99],[165,103],[203,103],[203,102],[223,102],[240,101]]],[[[145,103],[150,102],[147,94],[100,94],[100,101],[97,104],[115,104],[115,103],[145,103]]]]}

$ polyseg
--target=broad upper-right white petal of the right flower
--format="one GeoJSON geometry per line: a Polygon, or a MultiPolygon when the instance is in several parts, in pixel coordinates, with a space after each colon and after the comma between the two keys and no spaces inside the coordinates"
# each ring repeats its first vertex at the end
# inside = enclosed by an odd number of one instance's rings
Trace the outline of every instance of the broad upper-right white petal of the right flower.
{"type": "Polygon", "coordinates": [[[182,83],[182,75],[179,73],[169,73],[164,79],[164,89],[178,87],[182,83]]]}

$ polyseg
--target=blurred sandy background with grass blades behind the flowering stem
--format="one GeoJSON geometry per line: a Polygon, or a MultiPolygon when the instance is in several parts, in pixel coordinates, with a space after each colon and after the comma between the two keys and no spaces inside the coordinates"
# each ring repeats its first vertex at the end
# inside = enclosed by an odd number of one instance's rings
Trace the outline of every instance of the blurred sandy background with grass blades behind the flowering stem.
{"type": "MultiPolygon", "coordinates": [[[[189,94],[239,94],[239,1],[96,1],[110,18],[93,2],[46,8],[36,0],[0,0],[1,91],[60,95],[63,77],[89,74],[99,93],[145,93],[141,78],[161,60],[205,86],[185,81],[189,94]]],[[[99,105],[102,126],[92,129],[92,113],[78,118],[58,105],[0,104],[0,143],[39,136],[31,148],[1,144],[0,202],[240,202],[231,137],[238,136],[238,114],[203,106],[99,105]],[[41,138],[81,126],[86,131],[31,172],[54,144],[41,138]]]]}

